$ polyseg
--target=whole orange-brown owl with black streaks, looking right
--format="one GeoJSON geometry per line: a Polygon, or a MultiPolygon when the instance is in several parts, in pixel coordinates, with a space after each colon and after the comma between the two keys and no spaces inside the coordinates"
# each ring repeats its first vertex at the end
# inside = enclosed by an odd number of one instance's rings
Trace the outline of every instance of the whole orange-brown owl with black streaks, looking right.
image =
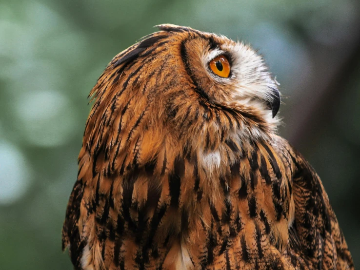
{"type": "Polygon", "coordinates": [[[263,59],[158,27],[90,93],[62,230],[75,269],[354,269],[319,176],[276,134],[263,59]]]}

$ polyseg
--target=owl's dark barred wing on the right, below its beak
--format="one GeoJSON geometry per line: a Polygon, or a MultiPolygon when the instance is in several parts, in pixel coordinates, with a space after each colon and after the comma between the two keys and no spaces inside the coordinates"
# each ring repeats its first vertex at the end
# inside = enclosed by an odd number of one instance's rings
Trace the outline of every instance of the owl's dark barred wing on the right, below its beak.
{"type": "Polygon", "coordinates": [[[290,253],[309,257],[318,269],[354,269],[351,254],[318,174],[301,154],[291,147],[288,151],[295,169],[292,188],[295,220],[289,231],[290,253]]]}

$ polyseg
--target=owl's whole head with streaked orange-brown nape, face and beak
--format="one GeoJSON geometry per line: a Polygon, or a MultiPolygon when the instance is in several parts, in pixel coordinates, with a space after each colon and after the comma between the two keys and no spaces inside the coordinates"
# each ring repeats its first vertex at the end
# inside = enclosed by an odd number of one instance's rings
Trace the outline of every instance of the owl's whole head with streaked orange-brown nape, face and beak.
{"type": "Polygon", "coordinates": [[[152,149],[168,143],[178,152],[236,153],[275,132],[280,93],[250,46],[189,27],[158,27],[113,58],[91,91],[89,153],[133,155],[140,141],[152,149]]]}

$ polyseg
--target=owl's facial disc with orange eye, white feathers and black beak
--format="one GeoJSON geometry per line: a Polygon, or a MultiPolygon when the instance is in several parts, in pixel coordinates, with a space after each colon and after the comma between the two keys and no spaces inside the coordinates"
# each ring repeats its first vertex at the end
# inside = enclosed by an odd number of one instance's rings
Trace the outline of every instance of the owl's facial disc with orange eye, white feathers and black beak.
{"type": "Polygon", "coordinates": [[[195,32],[182,41],[180,52],[187,73],[209,102],[253,107],[268,121],[269,116],[276,116],[280,107],[277,84],[252,48],[223,36],[195,32]]]}

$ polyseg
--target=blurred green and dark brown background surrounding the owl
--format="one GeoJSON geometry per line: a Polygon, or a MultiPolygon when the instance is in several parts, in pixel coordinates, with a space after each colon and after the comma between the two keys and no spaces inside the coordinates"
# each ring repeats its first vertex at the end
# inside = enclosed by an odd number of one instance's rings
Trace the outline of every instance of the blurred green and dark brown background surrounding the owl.
{"type": "Polygon", "coordinates": [[[280,134],[320,175],[360,264],[360,1],[2,0],[0,268],[72,269],[61,226],[110,59],[160,23],[251,43],[283,94],[280,134]]]}

